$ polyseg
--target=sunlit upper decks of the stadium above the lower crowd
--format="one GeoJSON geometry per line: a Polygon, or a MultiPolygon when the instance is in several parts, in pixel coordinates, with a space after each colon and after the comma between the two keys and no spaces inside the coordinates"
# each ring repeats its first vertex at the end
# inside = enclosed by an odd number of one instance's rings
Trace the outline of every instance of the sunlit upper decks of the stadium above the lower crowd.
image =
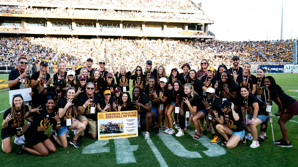
{"type": "Polygon", "coordinates": [[[15,14],[0,10],[0,33],[215,38],[208,31],[208,25],[214,21],[199,5],[188,0],[4,0],[0,5],[13,5],[23,11],[15,14]]]}

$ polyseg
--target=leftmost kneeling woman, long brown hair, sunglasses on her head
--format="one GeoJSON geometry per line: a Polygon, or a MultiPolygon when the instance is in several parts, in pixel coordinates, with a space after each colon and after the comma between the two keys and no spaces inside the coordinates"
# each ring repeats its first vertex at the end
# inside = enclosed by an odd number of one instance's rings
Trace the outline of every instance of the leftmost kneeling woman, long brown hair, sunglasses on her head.
{"type": "Polygon", "coordinates": [[[13,149],[11,144],[12,136],[15,136],[15,144],[22,145],[25,141],[24,136],[30,124],[24,125],[24,115],[29,111],[29,107],[24,105],[24,99],[21,94],[13,96],[12,107],[8,108],[3,115],[1,128],[2,150],[5,153],[10,153],[13,149]],[[21,129],[19,129],[21,128],[21,129]],[[17,135],[17,130],[22,130],[22,133],[17,135]]]}

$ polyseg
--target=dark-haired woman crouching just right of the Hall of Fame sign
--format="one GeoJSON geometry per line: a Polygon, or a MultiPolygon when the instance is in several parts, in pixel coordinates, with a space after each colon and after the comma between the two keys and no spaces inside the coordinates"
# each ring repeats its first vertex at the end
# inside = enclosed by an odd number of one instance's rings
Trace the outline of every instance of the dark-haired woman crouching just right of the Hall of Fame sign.
{"type": "Polygon", "coordinates": [[[143,94],[142,90],[139,87],[134,87],[132,93],[134,107],[140,115],[141,131],[146,131],[145,140],[149,140],[149,129],[152,123],[152,119],[155,119],[155,114],[151,111],[148,98],[143,94]]]}

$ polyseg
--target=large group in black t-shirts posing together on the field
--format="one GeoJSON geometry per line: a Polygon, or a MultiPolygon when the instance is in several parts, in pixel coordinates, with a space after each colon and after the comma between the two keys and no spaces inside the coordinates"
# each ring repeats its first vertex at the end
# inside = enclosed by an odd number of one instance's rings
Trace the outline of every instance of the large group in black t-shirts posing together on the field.
{"type": "MultiPolygon", "coordinates": [[[[259,67],[257,76],[254,76],[250,72],[251,63],[243,62],[240,67],[240,58],[234,56],[230,69],[221,64],[216,70],[208,59],[202,59],[198,71],[184,63],[182,73],[173,68],[167,76],[164,66],[159,65],[155,69],[151,60],[147,60],[143,69],[140,64],[144,56],[139,54],[138,62],[128,71],[124,65],[116,69],[114,52],[110,52],[114,76],[104,70],[104,60],[99,61],[100,69],[94,70],[93,59],[88,58],[86,67],[77,69],[76,65],[80,62],[77,60],[73,69],[67,72],[66,63],[58,62],[53,78],[47,73],[48,63],[41,61],[40,71],[30,77],[25,70],[27,58],[18,58],[18,68],[10,72],[8,86],[10,90],[31,88],[29,94],[32,100],[24,99],[22,94],[13,95],[12,107],[5,111],[3,117],[2,150],[11,152],[11,140],[15,136],[14,142],[20,145],[18,154],[27,151],[47,156],[56,150],[53,142],[67,147],[69,130],[74,130],[74,137],[69,143],[80,147],[82,136],[88,134],[95,139],[100,133],[98,112],[132,110],[138,111],[139,126],[145,132],[145,140],[150,139],[151,125],[155,125],[153,130],[156,135],[161,130],[171,135],[176,129],[175,136],[180,137],[190,122],[195,127],[193,139],[199,139],[205,121],[207,131],[214,137],[211,143],[218,143],[224,138],[221,145],[233,148],[238,143],[244,145],[247,138],[252,140],[250,147],[255,148],[266,138],[266,103],[272,105],[271,100],[278,105],[281,114],[278,123],[283,137],[276,143],[292,147],[285,123],[298,114],[298,102],[285,94],[274,78],[265,77],[263,67],[259,67]],[[30,124],[24,124],[25,119],[30,124]],[[53,125],[52,131],[46,136],[45,131],[50,125],[53,125]],[[261,125],[259,135],[257,125],[261,125]],[[245,131],[248,132],[246,136],[245,131]]],[[[122,130],[122,123],[117,126],[117,130],[122,130]]],[[[111,133],[113,129],[108,127],[111,126],[101,125],[101,133],[111,133]]]]}

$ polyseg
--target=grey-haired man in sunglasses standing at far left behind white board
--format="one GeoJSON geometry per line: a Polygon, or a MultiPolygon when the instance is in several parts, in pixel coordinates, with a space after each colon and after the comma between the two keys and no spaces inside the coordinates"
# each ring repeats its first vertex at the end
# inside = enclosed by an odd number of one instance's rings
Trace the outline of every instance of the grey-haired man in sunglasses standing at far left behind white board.
{"type": "MultiPolygon", "coordinates": [[[[9,90],[25,89],[30,88],[30,74],[27,69],[27,57],[18,58],[18,68],[11,70],[8,76],[8,87],[9,90]]],[[[29,93],[31,96],[33,92],[29,93]]],[[[29,107],[29,101],[24,102],[29,107]]]]}

